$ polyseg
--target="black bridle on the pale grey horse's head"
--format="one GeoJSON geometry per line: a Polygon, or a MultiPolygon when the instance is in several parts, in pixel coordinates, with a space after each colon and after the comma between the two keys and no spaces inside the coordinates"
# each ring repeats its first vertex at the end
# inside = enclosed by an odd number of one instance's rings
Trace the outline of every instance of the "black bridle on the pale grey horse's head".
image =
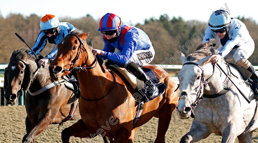
{"type": "Polygon", "coordinates": [[[200,82],[200,84],[198,86],[199,87],[198,92],[197,93],[189,93],[190,95],[196,95],[196,100],[191,104],[191,107],[192,107],[192,109],[191,109],[191,117],[193,119],[195,119],[194,110],[195,110],[197,104],[202,100],[202,97],[203,97],[203,92],[202,91],[205,89],[207,83],[204,81],[203,68],[199,64],[196,64],[196,63],[193,63],[193,62],[187,62],[187,63],[183,64],[183,66],[186,65],[186,64],[193,64],[193,65],[197,66],[198,68],[200,68],[201,71],[202,71],[201,72],[201,82],[200,82]]]}

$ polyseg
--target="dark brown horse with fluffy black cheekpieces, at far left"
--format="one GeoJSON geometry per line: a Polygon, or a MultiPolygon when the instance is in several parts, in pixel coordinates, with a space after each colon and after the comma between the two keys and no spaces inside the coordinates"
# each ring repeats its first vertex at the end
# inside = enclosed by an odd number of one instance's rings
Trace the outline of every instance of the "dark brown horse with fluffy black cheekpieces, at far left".
{"type": "MultiPolygon", "coordinates": [[[[48,66],[49,64],[46,64],[46,68],[40,68],[33,78],[38,68],[36,57],[29,54],[26,49],[15,50],[5,69],[4,91],[7,104],[14,105],[18,97],[22,96],[22,90],[29,89],[33,93],[52,83],[48,66]]],[[[64,84],[54,86],[35,96],[27,92],[25,96],[27,134],[22,142],[35,143],[36,137],[48,125],[65,122],[72,109],[74,98],[73,92],[68,90],[64,84]]],[[[77,108],[70,120],[79,118],[79,108],[77,108]]]]}

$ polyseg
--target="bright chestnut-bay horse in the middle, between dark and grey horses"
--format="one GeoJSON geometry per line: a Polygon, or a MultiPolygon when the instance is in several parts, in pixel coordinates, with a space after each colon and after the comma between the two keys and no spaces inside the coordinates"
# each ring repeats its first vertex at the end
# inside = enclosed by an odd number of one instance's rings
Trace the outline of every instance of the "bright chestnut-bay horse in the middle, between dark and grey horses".
{"type": "Polygon", "coordinates": [[[76,30],[73,34],[58,44],[57,57],[49,66],[54,80],[68,74],[72,68],[79,69],[76,72],[81,87],[79,107],[82,119],[62,131],[62,141],[69,142],[71,136],[88,139],[106,135],[114,138],[115,143],[132,142],[136,129],[156,117],[159,119],[155,142],[163,143],[178,103],[174,79],[162,68],[146,66],[162,77],[160,82],[164,82],[167,88],[162,95],[144,104],[140,119],[133,126],[137,114],[137,104],[132,97],[134,89],[120,73],[110,71],[102,59],[92,54],[92,46],[85,42],[90,33],[76,30]]]}

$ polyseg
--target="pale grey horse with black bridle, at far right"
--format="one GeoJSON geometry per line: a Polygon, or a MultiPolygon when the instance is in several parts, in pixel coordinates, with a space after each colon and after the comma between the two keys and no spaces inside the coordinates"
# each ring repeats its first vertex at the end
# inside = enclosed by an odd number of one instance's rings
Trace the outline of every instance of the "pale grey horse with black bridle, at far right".
{"type": "Polygon", "coordinates": [[[197,142],[212,133],[222,136],[222,143],[234,143],[236,138],[239,143],[251,143],[252,133],[258,127],[254,92],[244,75],[225,60],[211,64],[213,54],[218,53],[211,42],[201,44],[187,58],[181,54],[183,67],[178,73],[180,99],[176,108],[180,118],[191,116],[194,120],[180,143],[197,142]]]}

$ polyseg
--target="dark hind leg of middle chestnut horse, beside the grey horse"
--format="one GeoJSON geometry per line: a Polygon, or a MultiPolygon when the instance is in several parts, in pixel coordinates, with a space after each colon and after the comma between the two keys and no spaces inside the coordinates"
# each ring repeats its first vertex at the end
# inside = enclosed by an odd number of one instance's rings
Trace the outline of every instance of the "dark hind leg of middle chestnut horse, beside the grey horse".
{"type": "Polygon", "coordinates": [[[155,143],[164,143],[165,142],[165,134],[169,127],[170,120],[172,117],[172,113],[175,109],[176,105],[174,104],[166,104],[161,110],[158,112],[158,132],[157,137],[155,139],[155,143]]]}

